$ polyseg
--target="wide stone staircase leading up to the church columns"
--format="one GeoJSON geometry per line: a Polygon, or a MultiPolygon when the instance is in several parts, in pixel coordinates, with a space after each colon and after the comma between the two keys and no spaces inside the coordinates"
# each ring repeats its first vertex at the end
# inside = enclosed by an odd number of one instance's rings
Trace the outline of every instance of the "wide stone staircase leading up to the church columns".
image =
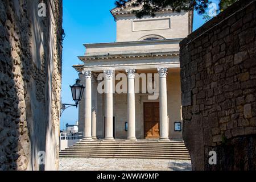
{"type": "Polygon", "coordinates": [[[74,144],[60,151],[62,158],[138,158],[190,160],[183,142],[138,140],[92,140],[74,144]]]}

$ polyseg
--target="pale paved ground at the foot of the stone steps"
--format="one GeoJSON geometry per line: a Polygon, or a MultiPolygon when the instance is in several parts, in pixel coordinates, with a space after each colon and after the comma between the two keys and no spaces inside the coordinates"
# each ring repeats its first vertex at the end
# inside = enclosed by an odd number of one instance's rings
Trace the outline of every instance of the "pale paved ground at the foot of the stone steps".
{"type": "Polygon", "coordinates": [[[189,160],[60,158],[60,171],[191,171],[189,160]]]}

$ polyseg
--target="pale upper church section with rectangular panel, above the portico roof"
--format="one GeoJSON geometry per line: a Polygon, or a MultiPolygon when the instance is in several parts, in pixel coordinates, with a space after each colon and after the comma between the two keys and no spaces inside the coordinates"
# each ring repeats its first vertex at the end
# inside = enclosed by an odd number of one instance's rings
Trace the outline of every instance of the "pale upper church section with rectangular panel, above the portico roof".
{"type": "Polygon", "coordinates": [[[142,6],[134,7],[134,2],[131,0],[125,7],[111,10],[117,21],[117,42],[185,38],[192,32],[193,11],[177,13],[170,7],[156,13],[154,18],[138,19],[133,11],[142,6]]]}

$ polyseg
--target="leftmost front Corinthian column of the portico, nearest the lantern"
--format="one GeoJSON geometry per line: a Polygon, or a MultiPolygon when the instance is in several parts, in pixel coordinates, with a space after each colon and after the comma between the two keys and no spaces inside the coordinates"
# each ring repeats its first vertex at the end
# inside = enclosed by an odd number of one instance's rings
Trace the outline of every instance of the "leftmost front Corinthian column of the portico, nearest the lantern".
{"type": "Polygon", "coordinates": [[[92,72],[82,72],[85,77],[84,139],[92,139],[92,72]]]}

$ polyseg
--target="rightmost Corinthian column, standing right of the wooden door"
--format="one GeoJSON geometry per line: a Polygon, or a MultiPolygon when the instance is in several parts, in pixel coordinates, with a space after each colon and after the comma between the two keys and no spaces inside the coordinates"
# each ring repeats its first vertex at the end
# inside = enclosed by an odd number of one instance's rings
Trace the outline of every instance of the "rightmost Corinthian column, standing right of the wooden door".
{"type": "Polygon", "coordinates": [[[160,139],[169,140],[168,138],[168,112],[167,112],[167,77],[168,68],[158,68],[159,73],[159,90],[160,90],[160,139]]]}

